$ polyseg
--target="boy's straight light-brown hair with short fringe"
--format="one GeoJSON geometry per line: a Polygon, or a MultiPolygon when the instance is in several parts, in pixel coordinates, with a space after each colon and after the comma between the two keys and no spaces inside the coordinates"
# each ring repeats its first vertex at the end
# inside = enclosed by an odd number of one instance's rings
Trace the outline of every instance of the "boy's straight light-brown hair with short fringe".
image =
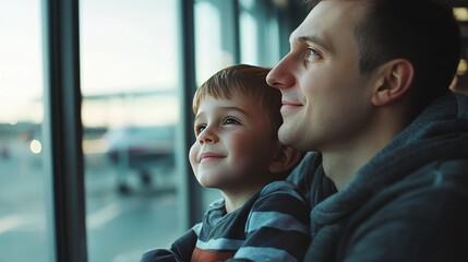
{"type": "Polygon", "coordinates": [[[273,139],[277,140],[278,129],[283,124],[280,114],[281,93],[266,83],[271,69],[249,64],[237,64],[225,68],[200,86],[193,97],[193,112],[196,115],[201,102],[206,96],[216,99],[230,99],[233,93],[255,98],[269,123],[273,139]]]}

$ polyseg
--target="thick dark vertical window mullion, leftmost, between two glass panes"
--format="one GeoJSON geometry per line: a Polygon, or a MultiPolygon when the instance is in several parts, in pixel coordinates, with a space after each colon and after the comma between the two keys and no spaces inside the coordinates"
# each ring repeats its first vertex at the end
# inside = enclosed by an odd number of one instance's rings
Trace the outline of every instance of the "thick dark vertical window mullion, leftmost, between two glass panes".
{"type": "Polygon", "coordinates": [[[44,142],[55,260],[87,261],[79,0],[44,0],[44,142]]]}

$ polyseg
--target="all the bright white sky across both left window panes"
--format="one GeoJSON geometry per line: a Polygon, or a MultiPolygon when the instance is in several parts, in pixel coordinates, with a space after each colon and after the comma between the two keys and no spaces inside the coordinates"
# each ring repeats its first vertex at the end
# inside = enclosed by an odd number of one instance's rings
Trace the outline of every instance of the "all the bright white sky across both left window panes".
{"type": "MultiPolygon", "coordinates": [[[[176,3],[81,0],[83,95],[176,88],[180,59],[176,3]]],[[[41,1],[0,0],[0,122],[40,122],[41,1]]]]}

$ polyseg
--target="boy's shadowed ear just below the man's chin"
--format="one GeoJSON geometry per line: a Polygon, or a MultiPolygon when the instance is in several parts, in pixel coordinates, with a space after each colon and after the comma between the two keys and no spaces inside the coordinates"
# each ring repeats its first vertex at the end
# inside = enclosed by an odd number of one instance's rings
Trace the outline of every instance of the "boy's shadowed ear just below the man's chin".
{"type": "Polygon", "coordinates": [[[269,171],[281,174],[291,170],[304,156],[304,153],[290,146],[281,145],[269,164],[269,171]]]}

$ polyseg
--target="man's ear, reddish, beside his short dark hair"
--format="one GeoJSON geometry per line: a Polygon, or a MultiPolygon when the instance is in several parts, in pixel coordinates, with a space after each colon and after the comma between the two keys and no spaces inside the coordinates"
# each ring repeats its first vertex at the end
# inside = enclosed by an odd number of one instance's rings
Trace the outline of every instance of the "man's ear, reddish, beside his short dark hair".
{"type": "Polygon", "coordinates": [[[379,69],[372,104],[384,106],[409,92],[415,79],[415,68],[406,59],[394,59],[379,69]]]}

